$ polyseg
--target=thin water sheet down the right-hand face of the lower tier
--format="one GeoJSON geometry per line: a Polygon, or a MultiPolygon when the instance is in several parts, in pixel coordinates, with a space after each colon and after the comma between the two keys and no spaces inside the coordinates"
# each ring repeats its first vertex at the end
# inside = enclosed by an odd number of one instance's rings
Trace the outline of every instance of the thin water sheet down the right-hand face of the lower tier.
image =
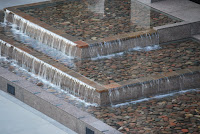
{"type": "MultiPolygon", "coordinates": [[[[137,100],[139,99],[139,101],[140,100],[145,101],[149,100],[150,96],[155,96],[158,94],[171,94],[174,91],[183,92],[184,90],[188,89],[188,85],[185,84],[186,81],[189,81],[190,83],[194,82],[193,76],[192,77],[190,76],[191,74],[190,73],[186,74],[189,77],[187,77],[186,75],[180,75],[177,77],[170,77],[170,78],[166,77],[158,80],[141,82],[132,85],[126,85],[124,87],[109,89],[108,96],[110,104],[112,106],[115,106],[118,102],[120,102],[123,99],[124,101],[127,101],[127,103],[123,104],[128,104],[130,101],[134,99],[137,100]]],[[[189,88],[196,88],[196,87],[189,87],[189,88]]]]}

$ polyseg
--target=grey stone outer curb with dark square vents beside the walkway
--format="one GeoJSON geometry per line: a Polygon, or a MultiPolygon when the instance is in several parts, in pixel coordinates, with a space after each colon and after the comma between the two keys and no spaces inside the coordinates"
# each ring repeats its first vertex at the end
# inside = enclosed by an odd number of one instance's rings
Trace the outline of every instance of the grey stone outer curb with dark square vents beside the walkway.
{"type": "Polygon", "coordinates": [[[86,127],[95,134],[121,134],[90,114],[27,82],[21,77],[0,67],[0,89],[7,92],[7,84],[15,87],[15,97],[79,134],[86,127]]]}

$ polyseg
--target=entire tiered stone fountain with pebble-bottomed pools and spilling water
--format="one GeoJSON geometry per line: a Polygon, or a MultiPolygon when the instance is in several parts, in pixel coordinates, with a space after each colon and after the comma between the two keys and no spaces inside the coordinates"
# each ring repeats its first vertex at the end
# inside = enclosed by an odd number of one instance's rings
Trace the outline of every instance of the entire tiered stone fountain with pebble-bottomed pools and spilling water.
{"type": "MultiPolygon", "coordinates": [[[[198,132],[199,41],[160,43],[166,42],[160,39],[167,26],[176,29],[185,22],[135,0],[94,2],[56,0],[5,9],[0,55],[7,59],[0,60],[55,97],[27,89],[33,95],[29,98],[20,91],[22,101],[70,128],[83,126],[75,128],[78,133],[90,128],[99,133],[179,133],[186,131],[185,126],[198,132]],[[159,26],[164,28],[155,30],[159,26]],[[95,119],[77,112],[80,109],[95,119]],[[96,118],[118,131],[99,125],[96,118]],[[171,130],[176,124],[178,129],[171,130]],[[180,124],[184,127],[179,131],[180,124]]],[[[20,85],[6,84],[11,82],[20,85]]]]}

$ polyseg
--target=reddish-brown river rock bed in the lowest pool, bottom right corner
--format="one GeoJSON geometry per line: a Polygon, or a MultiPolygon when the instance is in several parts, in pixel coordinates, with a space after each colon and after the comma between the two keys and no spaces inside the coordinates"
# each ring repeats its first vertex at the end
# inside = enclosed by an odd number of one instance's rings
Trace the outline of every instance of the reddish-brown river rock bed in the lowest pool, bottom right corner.
{"type": "Polygon", "coordinates": [[[121,107],[88,111],[124,134],[200,133],[200,90],[121,107]]]}

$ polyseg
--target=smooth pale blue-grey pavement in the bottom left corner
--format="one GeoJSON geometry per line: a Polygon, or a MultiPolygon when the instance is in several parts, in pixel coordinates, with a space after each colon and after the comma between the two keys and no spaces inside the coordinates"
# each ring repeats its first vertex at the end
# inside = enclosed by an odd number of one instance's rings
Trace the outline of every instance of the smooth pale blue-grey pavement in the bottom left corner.
{"type": "Polygon", "coordinates": [[[0,90],[0,134],[76,134],[0,90]]]}

